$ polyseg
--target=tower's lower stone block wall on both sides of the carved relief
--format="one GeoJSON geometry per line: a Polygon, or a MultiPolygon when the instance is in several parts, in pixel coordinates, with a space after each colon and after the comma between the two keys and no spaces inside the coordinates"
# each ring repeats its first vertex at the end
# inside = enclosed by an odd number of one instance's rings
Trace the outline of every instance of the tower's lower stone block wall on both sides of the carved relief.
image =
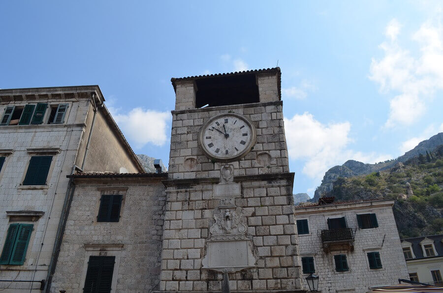
{"type": "MultiPolygon", "coordinates": [[[[238,176],[235,205],[247,221],[255,267],[229,273],[232,291],[301,288],[292,199],[293,174],[238,176]]],[[[159,291],[220,291],[222,274],[202,269],[220,198],[208,180],[169,180],[159,291]]]]}

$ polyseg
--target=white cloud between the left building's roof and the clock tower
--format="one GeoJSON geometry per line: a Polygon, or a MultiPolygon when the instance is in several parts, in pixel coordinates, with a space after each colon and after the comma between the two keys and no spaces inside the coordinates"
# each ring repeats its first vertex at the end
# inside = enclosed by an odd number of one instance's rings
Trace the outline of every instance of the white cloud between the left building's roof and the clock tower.
{"type": "Polygon", "coordinates": [[[166,130],[169,130],[167,125],[171,119],[171,113],[142,108],[120,113],[121,110],[114,107],[109,107],[109,112],[135,148],[141,148],[147,144],[162,146],[166,143],[166,130]]]}

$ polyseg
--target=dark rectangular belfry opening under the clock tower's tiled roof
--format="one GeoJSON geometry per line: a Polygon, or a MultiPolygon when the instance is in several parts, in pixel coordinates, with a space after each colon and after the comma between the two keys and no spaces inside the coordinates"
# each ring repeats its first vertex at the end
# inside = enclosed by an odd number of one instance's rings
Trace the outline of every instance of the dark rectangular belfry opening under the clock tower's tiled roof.
{"type": "Polygon", "coordinates": [[[260,102],[255,74],[198,79],[195,84],[196,108],[260,102]]]}

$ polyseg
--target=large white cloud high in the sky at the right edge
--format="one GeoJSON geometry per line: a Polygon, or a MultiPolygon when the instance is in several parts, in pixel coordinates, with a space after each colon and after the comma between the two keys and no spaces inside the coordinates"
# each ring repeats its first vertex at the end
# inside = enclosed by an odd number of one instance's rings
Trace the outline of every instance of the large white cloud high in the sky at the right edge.
{"type": "Polygon", "coordinates": [[[388,40],[380,44],[384,57],[372,59],[370,79],[380,91],[393,91],[386,127],[411,125],[426,113],[426,105],[437,90],[443,89],[443,29],[440,22],[427,21],[413,33],[419,54],[397,42],[401,24],[393,19],[386,27],[388,40]]]}

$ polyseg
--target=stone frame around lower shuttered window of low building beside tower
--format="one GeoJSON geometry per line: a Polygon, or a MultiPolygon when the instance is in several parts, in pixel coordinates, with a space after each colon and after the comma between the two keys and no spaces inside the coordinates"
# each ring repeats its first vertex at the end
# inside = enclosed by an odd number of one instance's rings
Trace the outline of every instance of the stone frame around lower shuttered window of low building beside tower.
{"type": "Polygon", "coordinates": [[[80,279],[80,291],[83,291],[86,281],[86,273],[88,272],[88,262],[90,256],[115,256],[114,271],[112,272],[111,293],[116,293],[117,279],[119,275],[120,258],[124,248],[123,243],[85,243],[85,259],[83,261],[82,275],[80,279]]]}

